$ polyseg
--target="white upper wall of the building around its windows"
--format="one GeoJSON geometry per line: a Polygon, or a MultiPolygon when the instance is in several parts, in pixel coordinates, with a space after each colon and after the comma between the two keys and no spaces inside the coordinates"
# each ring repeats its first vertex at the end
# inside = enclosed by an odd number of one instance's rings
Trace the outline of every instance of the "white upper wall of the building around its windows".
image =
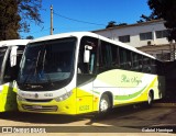
{"type": "MultiPolygon", "coordinates": [[[[101,31],[95,31],[95,33],[109,37],[114,41],[119,41],[119,36],[130,35],[130,43],[127,44],[133,47],[141,47],[141,46],[146,46],[148,41],[140,41],[140,33],[153,32],[154,35],[155,31],[163,31],[163,30],[166,30],[166,27],[164,26],[163,21],[161,21],[153,23],[127,25],[107,30],[105,29],[101,31]]],[[[168,44],[167,38],[155,38],[153,39],[153,42],[155,45],[168,44]]]]}

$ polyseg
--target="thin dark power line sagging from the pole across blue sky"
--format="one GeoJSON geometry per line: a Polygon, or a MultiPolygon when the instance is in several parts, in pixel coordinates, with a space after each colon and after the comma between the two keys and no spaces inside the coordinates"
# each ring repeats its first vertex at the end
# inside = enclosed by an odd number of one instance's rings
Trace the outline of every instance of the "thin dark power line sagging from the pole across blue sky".
{"type": "Polygon", "coordinates": [[[66,19],[66,20],[70,20],[70,21],[75,21],[75,22],[79,22],[79,23],[91,24],[91,25],[101,25],[101,26],[106,26],[106,24],[98,24],[98,23],[92,23],[92,22],[76,20],[76,19],[72,19],[72,18],[68,18],[68,16],[62,15],[62,14],[56,13],[56,12],[53,12],[53,13],[54,13],[55,15],[61,16],[61,18],[66,19]]]}

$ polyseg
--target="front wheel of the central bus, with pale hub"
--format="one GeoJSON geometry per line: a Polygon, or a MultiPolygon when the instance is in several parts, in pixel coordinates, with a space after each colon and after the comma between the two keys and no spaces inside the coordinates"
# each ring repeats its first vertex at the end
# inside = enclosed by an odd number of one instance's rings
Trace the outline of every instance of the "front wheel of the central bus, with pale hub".
{"type": "Polygon", "coordinates": [[[109,97],[107,94],[102,94],[100,99],[100,104],[99,104],[99,113],[100,114],[106,114],[110,111],[111,104],[109,97]]]}

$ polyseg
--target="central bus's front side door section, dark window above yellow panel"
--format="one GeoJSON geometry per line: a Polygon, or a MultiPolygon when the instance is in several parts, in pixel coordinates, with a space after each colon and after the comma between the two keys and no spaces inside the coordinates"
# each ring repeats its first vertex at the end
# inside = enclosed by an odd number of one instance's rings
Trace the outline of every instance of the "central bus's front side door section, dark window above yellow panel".
{"type": "Polygon", "coordinates": [[[96,77],[98,39],[82,37],[77,65],[77,113],[91,112],[94,107],[94,80],[96,77]],[[86,53],[87,52],[87,53],[86,53]],[[86,58],[87,54],[87,58],[86,58]],[[86,60],[87,59],[87,60],[86,60]]]}

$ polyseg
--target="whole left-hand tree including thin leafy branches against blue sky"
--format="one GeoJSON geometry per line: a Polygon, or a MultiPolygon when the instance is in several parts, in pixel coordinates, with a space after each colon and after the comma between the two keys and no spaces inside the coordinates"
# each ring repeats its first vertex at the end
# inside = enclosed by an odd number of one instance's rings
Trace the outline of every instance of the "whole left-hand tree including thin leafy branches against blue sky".
{"type": "Polygon", "coordinates": [[[0,41],[20,38],[29,32],[31,21],[42,23],[42,0],[0,0],[0,41]]]}

